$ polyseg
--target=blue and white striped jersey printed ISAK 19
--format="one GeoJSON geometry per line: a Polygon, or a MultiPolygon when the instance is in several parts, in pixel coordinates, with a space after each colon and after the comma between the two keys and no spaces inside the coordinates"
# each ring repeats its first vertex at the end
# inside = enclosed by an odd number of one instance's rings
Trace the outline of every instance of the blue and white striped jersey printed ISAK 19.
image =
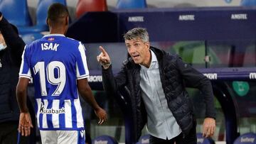
{"type": "Polygon", "coordinates": [[[60,34],[26,45],[19,77],[33,78],[40,130],[82,130],[77,79],[89,77],[85,48],[60,34]]]}

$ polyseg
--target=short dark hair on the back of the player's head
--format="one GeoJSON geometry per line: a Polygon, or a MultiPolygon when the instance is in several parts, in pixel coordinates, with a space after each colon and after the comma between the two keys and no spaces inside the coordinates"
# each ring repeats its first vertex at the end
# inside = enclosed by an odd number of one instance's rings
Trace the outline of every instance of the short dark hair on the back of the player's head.
{"type": "Polygon", "coordinates": [[[63,23],[63,18],[69,16],[67,6],[60,3],[50,5],[48,9],[48,20],[52,23],[63,23]]]}

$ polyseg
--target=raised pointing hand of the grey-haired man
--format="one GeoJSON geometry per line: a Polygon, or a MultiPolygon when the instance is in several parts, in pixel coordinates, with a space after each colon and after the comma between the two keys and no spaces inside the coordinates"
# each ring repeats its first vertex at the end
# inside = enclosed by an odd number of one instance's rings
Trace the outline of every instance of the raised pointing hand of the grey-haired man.
{"type": "Polygon", "coordinates": [[[106,50],[100,46],[100,55],[97,56],[97,61],[104,69],[108,69],[111,65],[110,56],[107,54],[106,50]]]}

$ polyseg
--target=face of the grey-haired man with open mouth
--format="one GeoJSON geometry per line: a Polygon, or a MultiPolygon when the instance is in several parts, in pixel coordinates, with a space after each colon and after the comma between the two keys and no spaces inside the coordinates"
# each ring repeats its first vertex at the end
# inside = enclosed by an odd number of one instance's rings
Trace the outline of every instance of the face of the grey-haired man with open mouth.
{"type": "Polygon", "coordinates": [[[151,54],[149,51],[149,42],[144,42],[140,38],[133,40],[125,40],[125,45],[129,55],[136,64],[149,67],[151,54]]]}

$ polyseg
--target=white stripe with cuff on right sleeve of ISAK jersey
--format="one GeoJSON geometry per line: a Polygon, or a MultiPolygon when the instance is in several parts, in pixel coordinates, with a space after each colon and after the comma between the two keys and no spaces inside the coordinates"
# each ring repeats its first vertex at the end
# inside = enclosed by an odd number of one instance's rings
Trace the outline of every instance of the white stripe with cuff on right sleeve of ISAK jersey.
{"type": "Polygon", "coordinates": [[[78,50],[79,50],[80,55],[82,57],[82,64],[83,64],[83,67],[85,68],[85,74],[80,75],[79,70],[78,70],[78,66],[77,66],[77,70],[76,70],[77,71],[77,77],[78,78],[80,78],[80,77],[87,78],[87,77],[89,77],[89,70],[88,70],[88,67],[87,67],[87,60],[86,60],[86,56],[85,56],[85,47],[82,45],[81,42],[79,43],[78,50]]]}

